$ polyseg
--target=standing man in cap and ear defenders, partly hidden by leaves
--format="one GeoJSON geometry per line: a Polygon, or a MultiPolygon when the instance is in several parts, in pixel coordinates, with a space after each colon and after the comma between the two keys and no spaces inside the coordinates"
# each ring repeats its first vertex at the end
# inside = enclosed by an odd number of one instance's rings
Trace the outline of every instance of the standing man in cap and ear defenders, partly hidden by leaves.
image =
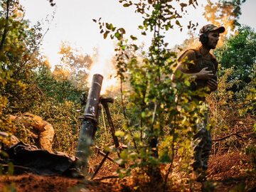
{"type": "MultiPolygon", "coordinates": [[[[223,26],[217,27],[212,24],[203,26],[200,30],[199,41],[201,46],[196,49],[186,50],[180,58],[176,71],[193,76],[195,82],[191,83],[193,91],[199,89],[210,90],[212,92],[217,90],[217,68],[218,62],[211,49],[217,46],[220,33],[223,33],[225,28],[223,26]]],[[[172,80],[175,80],[175,72],[172,80]]],[[[196,99],[205,103],[205,97],[196,96],[196,99]]],[[[196,124],[198,132],[193,137],[193,178],[196,181],[203,181],[206,178],[206,171],[208,169],[208,158],[211,149],[211,135],[210,131],[206,129],[208,123],[208,114],[205,114],[203,121],[196,124]]]]}

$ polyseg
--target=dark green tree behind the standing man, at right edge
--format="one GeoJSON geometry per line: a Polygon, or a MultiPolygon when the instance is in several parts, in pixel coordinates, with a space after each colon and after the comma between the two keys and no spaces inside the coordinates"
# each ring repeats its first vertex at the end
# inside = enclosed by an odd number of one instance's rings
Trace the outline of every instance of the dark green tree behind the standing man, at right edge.
{"type": "Polygon", "coordinates": [[[238,28],[238,33],[229,38],[222,48],[215,50],[215,55],[223,68],[234,68],[234,73],[229,78],[233,82],[232,90],[242,90],[255,78],[255,31],[248,26],[238,28]]]}

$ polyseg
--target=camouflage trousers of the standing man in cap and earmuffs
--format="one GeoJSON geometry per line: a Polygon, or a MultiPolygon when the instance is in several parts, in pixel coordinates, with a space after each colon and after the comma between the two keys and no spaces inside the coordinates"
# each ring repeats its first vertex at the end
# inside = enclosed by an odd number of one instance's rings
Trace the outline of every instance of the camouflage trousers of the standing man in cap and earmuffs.
{"type": "Polygon", "coordinates": [[[201,122],[196,124],[198,132],[193,136],[193,170],[206,171],[208,169],[208,159],[210,156],[210,149],[212,146],[211,134],[206,129],[208,124],[208,113],[205,113],[205,117],[201,119],[201,122]]]}

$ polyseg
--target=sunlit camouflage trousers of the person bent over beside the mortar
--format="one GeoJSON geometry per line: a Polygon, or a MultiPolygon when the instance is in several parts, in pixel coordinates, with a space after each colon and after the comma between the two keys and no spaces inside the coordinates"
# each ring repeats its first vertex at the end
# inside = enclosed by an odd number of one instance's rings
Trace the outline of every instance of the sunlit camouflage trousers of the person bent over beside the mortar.
{"type": "Polygon", "coordinates": [[[54,136],[54,129],[51,124],[46,124],[43,127],[43,132],[41,132],[38,136],[39,139],[39,146],[41,149],[46,149],[48,151],[52,151],[53,145],[53,136],[54,136]]]}

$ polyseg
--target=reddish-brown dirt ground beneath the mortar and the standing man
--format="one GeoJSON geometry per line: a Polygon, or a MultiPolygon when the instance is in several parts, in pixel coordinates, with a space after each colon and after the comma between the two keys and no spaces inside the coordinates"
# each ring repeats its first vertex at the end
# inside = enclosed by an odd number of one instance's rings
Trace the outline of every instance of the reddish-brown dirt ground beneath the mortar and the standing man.
{"type": "MultiPolygon", "coordinates": [[[[100,163],[101,156],[94,156],[91,166],[100,163]]],[[[90,180],[67,178],[64,176],[39,176],[21,174],[0,176],[1,191],[163,191],[157,184],[139,181],[137,176],[114,178],[117,176],[117,164],[105,161],[97,176],[90,180]],[[107,178],[112,177],[112,178],[107,178]]],[[[163,167],[162,172],[164,172],[163,167]]],[[[256,191],[256,176],[252,174],[250,158],[239,152],[211,156],[208,180],[199,183],[191,181],[188,174],[174,170],[169,176],[165,191],[256,191]]]]}

